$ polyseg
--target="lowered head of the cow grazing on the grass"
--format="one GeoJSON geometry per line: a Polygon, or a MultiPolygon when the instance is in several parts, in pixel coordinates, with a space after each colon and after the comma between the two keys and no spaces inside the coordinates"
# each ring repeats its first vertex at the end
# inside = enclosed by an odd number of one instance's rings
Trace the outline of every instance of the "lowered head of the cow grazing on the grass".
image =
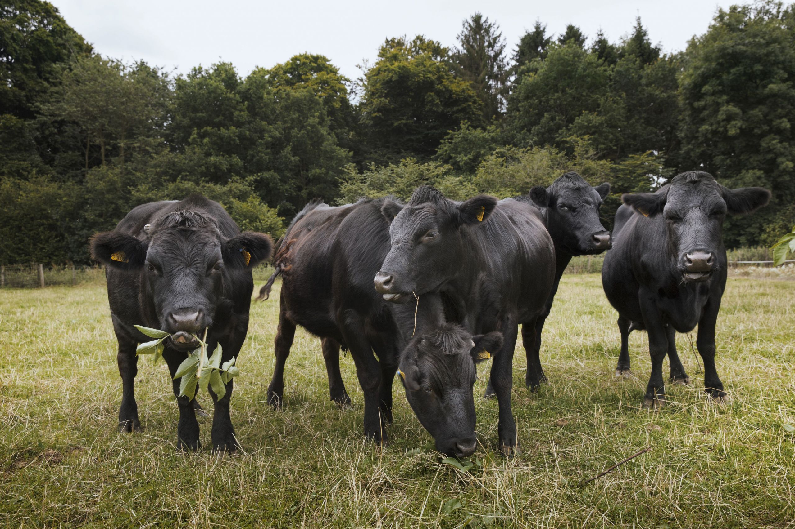
{"type": "Polygon", "coordinates": [[[466,457],[475,452],[475,364],[502,347],[502,334],[472,336],[441,324],[417,335],[401,354],[405,395],[436,450],[466,457]]]}

